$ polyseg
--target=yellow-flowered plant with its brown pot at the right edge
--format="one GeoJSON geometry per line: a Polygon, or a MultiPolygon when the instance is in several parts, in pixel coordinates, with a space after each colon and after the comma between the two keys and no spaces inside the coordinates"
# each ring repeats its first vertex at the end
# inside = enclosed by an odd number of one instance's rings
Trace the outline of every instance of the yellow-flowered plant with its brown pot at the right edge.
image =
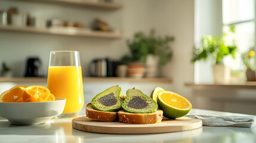
{"type": "Polygon", "coordinates": [[[247,81],[255,81],[255,52],[251,49],[243,54],[243,63],[246,66],[247,81]]]}

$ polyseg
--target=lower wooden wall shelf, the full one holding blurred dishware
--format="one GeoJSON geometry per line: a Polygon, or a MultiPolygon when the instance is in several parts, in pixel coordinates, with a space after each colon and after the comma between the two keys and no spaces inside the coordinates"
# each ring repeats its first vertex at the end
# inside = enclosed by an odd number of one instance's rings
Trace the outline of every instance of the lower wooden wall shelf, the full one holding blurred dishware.
{"type": "Polygon", "coordinates": [[[67,36],[87,36],[94,38],[122,38],[122,33],[118,32],[100,32],[93,30],[83,30],[73,27],[61,28],[36,28],[36,27],[16,27],[16,26],[0,26],[0,30],[12,32],[29,32],[42,33],[50,35],[67,35],[67,36]]]}

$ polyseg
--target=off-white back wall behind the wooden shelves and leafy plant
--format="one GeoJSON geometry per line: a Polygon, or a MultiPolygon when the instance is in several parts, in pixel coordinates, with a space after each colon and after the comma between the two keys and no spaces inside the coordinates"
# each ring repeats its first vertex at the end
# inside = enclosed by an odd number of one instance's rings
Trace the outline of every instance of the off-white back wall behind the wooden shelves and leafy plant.
{"type": "MultiPolygon", "coordinates": [[[[52,50],[78,50],[84,76],[88,76],[88,64],[92,58],[110,57],[119,59],[128,52],[125,40],[135,32],[149,32],[155,28],[158,35],[175,36],[171,43],[174,56],[171,62],[162,68],[162,76],[172,77],[172,86],[166,90],[178,92],[190,98],[185,82],[193,82],[193,65],[190,63],[193,47],[193,11],[192,0],[129,0],[122,2],[124,7],[115,11],[98,11],[87,8],[63,5],[43,4],[24,1],[0,1],[0,10],[17,6],[21,13],[30,13],[42,18],[63,18],[81,21],[90,26],[95,17],[107,21],[110,26],[124,32],[122,39],[87,38],[79,36],[42,35],[36,33],[0,31],[0,62],[7,61],[14,76],[23,76],[26,58],[39,56],[43,62],[44,75],[47,76],[48,58],[52,50]]],[[[152,83],[151,86],[164,86],[152,83]]],[[[144,89],[149,87],[143,86],[144,89]]],[[[169,87],[169,88],[168,88],[169,87]]],[[[152,88],[148,89],[149,92],[152,88]]],[[[88,91],[89,92],[89,91],[88,91]]]]}

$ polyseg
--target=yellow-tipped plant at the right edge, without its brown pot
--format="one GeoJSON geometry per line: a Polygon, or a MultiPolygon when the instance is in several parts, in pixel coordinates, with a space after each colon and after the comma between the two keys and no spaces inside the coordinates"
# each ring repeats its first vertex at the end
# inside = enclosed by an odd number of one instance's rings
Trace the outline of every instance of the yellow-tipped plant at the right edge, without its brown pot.
{"type": "Polygon", "coordinates": [[[246,66],[247,70],[255,70],[255,52],[250,50],[243,54],[243,63],[246,66]]]}

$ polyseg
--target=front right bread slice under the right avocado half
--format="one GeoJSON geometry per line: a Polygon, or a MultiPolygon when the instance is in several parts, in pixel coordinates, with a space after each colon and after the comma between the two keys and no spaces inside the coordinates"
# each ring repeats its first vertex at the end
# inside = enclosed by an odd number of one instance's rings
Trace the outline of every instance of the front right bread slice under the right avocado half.
{"type": "Polygon", "coordinates": [[[153,124],[162,121],[163,111],[158,109],[155,113],[128,113],[124,110],[119,110],[118,116],[120,123],[153,124]]]}

